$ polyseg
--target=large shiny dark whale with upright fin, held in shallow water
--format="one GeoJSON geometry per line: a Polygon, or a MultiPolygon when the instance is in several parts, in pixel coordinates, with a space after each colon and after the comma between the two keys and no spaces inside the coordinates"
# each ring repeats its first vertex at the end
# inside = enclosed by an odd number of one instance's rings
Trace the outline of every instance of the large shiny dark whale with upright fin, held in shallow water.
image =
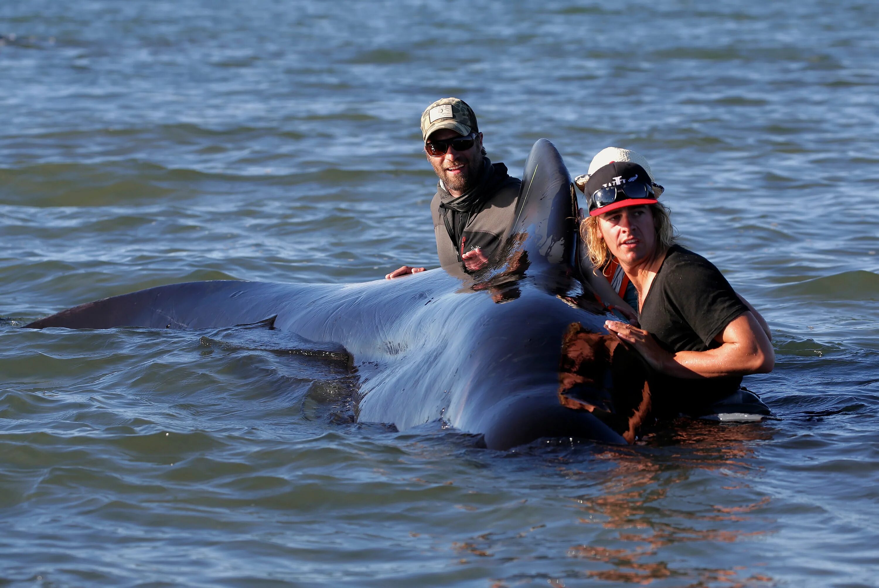
{"type": "Polygon", "coordinates": [[[361,284],[191,282],[90,302],[27,327],[262,322],[344,346],[363,422],[404,430],[442,419],[497,449],[541,437],[631,443],[650,415],[650,374],[607,334],[606,309],[573,276],[571,189],[555,146],[536,142],[512,236],[473,275],[447,268],[361,284]]]}

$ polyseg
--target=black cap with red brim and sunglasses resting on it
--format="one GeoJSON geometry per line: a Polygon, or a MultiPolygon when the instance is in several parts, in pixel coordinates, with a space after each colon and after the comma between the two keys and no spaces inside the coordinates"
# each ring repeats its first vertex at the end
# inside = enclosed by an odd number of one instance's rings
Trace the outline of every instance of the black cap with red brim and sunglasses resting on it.
{"type": "Polygon", "coordinates": [[[656,204],[663,190],[637,163],[611,162],[589,176],[583,192],[590,216],[597,216],[618,208],[656,204]]]}

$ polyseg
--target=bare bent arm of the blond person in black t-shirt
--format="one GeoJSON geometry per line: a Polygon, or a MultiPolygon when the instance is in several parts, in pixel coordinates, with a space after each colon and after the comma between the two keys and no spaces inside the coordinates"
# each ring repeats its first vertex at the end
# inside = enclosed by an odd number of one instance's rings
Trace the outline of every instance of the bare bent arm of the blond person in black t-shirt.
{"type": "Polygon", "coordinates": [[[635,347],[650,367],[676,378],[766,374],[775,364],[772,344],[750,312],[730,321],[715,338],[720,347],[706,352],[672,354],[660,347],[646,330],[616,321],[607,321],[605,326],[621,341],[635,347]]]}

